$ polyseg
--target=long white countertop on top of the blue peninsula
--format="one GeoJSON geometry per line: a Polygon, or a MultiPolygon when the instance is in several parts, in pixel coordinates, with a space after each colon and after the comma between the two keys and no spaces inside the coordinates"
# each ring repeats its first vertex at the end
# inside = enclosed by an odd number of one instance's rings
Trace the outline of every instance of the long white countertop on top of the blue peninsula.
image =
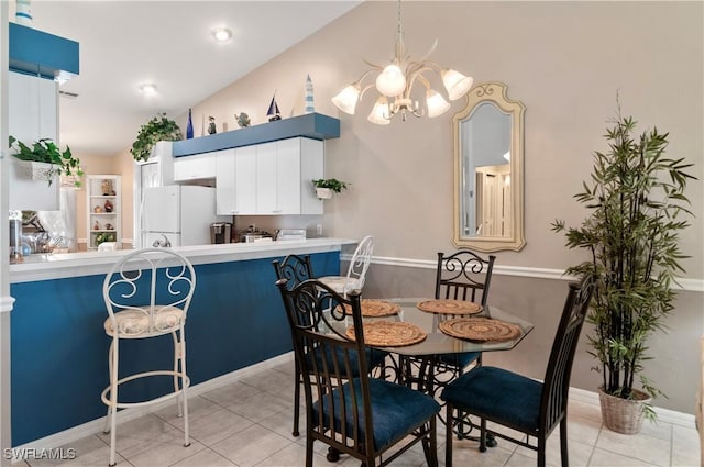
{"type": "MultiPolygon", "coordinates": [[[[175,252],[194,265],[271,258],[295,254],[340,251],[343,245],[356,244],[352,238],[308,238],[301,241],[226,243],[218,245],[178,246],[175,252]]],[[[10,283],[106,274],[118,258],[133,249],[114,252],[82,252],[38,254],[10,265],[10,283]]]]}

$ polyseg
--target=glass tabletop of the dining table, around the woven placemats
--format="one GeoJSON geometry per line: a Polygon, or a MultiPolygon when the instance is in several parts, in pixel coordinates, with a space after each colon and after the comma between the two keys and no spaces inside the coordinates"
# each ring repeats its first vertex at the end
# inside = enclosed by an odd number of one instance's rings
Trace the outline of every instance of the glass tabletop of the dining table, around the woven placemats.
{"type": "MultiPolygon", "coordinates": [[[[443,319],[460,318],[460,315],[449,313],[431,313],[418,309],[418,303],[427,301],[429,299],[424,298],[394,298],[394,299],[380,299],[386,302],[396,303],[399,305],[400,311],[398,314],[380,316],[380,318],[366,318],[364,322],[374,321],[400,321],[406,323],[416,324],[426,334],[426,338],[411,345],[394,345],[394,346],[377,346],[367,343],[367,346],[380,348],[386,352],[395,353],[402,356],[438,356],[443,354],[455,354],[465,352],[492,352],[492,351],[508,351],[514,348],[520,341],[528,335],[534,329],[532,323],[516,316],[507,311],[504,311],[497,307],[487,305],[481,312],[472,314],[468,318],[488,318],[493,320],[501,320],[506,323],[515,324],[520,332],[512,338],[502,341],[472,341],[468,338],[459,338],[446,334],[439,329],[439,322],[443,319]]],[[[462,315],[461,318],[464,318],[462,315]]]]}

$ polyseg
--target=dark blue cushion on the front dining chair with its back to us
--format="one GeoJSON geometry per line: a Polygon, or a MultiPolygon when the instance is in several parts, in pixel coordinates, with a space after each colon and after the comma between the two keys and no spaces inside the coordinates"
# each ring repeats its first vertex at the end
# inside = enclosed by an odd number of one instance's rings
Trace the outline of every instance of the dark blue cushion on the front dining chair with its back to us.
{"type": "MultiPolygon", "coordinates": [[[[342,386],[342,390],[336,389],[331,396],[323,397],[322,410],[324,423],[329,423],[330,403],[334,401],[334,426],[337,431],[341,430],[341,393],[344,393],[345,429],[348,433],[352,433],[354,430],[354,413],[352,409],[354,398],[356,399],[360,421],[358,436],[360,440],[364,440],[366,424],[363,412],[362,388],[359,378],[345,382],[342,386]],[[350,385],[353,385],[353,388],[351,388],[350,385]]],[[[374,433],[372,436],[376,451],[383,451],[385,447],[398,442],[440,411],[440,404],[432,398],[405,386],[382,379],[370,379],[370,394],[374,423],[374,433]]],[[[318,400],[312,405],[312,422],[316,425],[318,424],[319,410],[320,401],[318,400]]]]}

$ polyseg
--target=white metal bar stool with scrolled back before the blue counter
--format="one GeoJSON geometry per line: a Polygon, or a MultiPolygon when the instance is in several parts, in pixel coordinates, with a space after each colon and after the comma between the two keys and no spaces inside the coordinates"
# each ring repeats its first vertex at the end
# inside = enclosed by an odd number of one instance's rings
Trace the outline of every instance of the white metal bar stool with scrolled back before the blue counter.
{"type": "Polygon", "coordinates": [[[101,394],[108,405],[106,433],[110,432],[110,466],[116,465],[118,409],[180,399],[178,415],[184,416],[184,446],[188,436],[188,398],[190,380],[186,375],[186,338],[184,326],[196,288],[196,273],[190,262],[167,248],[145,248],[124,256],[106,276],[102,294],[108,308],[106,333],[112,337],[109,351],[110,386],[101,394]],[[172,334],[174,368],[156,369],[118,379],[120,340],[156,337],[172,334]],[[140,378],[170,376],[174,391],[142,402],[120,402],[120,385],[140,378]],[[179,385],[180,382],[180,385],[179,385]]]}

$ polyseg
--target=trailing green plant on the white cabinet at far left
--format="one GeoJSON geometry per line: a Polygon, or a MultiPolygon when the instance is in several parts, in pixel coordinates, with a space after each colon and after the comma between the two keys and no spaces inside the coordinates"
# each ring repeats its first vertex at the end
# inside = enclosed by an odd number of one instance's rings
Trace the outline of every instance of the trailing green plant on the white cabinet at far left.
{"type": "Polygon", "coordinates": [[[44,176],[52,185],[54,176],[68,176],[74,177],[74,185],[80,188],[80,177],[84,176],[84,171],[80,168],[80,159],[74,157],[70,152],[70,147],[66,146],[66,149],[61,151],[56,143],[50,138],[42,138],[32,146],[28,146],[14,136],[10,136],[10,147],[14,149],[13,156],[20,160],[51,164],[52,166],[44,170],[44,176]]]}

